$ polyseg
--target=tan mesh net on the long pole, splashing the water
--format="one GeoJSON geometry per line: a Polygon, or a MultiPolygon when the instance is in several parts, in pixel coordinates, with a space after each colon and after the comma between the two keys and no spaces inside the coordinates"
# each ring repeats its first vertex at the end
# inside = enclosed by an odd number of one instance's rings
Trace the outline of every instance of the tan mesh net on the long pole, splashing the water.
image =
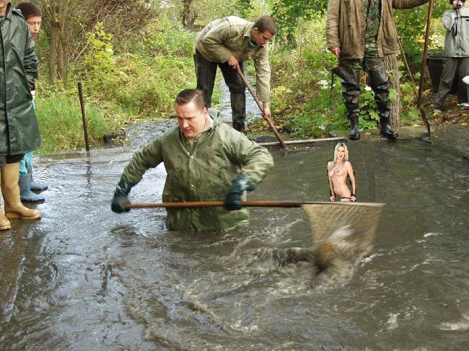
{"type": "Polygon", "coordinates": [[[384,203],[313,203],[301,205],[313,229],[315,258],[327,267],[334,256],[359,260],[373,247],[384,203]]]}

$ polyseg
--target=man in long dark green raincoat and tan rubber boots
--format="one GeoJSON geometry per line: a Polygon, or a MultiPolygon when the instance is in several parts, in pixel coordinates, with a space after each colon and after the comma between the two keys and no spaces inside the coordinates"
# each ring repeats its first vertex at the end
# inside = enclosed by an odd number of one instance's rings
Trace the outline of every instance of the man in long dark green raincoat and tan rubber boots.
{"type": "Polygon", "coordinates": [[[0,1],[0,185],[5,214],[0,230],[10,228],[7,218],[37,219],[38,210],[20,201],[20,160],[40,146],[40,134],[31,90],[38,77],[34,42],[20,10],[0,1]]]}

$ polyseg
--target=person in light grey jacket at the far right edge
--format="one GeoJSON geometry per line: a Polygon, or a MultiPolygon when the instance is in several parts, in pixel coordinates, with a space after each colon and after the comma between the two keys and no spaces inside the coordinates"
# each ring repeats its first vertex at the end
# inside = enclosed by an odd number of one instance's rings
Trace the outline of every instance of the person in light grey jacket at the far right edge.
{"type": "Polygon", "coordinates": [[[433,105],[435,115],[442,113],[456,72],[459,79],[469,75],[469,7],[465,4],[466,0],[449,0],[449,3],[452,9],[446,10],[442,17],[442,24],[446,29],[445,58],[433,105]]]}

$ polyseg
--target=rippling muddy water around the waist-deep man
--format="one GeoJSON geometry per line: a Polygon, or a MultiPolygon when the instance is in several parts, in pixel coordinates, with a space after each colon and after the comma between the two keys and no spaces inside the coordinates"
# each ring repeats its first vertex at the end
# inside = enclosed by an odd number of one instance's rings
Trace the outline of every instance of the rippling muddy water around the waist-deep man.
{"type": "MultiPolygon", "coordinates": [[[[174,120],[168,122],[174,124],[174,120]]],[[[387,203],[373,251],[318,279],[301,209],[233,231],[168,232],[164,210],[110,211],[137,146],[34,159],[40,221],[0,232],[0,350],[465,350],[468,162],[415,140],[348,142],[359,201],[387,203]],[[300,255],[301,256],[301,255],[300,255]]],[[[333,145],[275,155],[251,199],[329,197],[333,145]]],[[[158,166],[131,201],[161,201],[158,166]]]]}

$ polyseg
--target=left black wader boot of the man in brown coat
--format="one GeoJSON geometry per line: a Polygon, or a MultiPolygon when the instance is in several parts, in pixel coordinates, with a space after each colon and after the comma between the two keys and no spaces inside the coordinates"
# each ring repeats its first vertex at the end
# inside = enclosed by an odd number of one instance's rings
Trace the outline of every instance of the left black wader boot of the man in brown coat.
{"type": "Polygon", "coordinates": [[[360,70],[338,66],[332,72],[342,78],[342,96],[350,119],[349,139],[360,139],[358,95],[360,95],[360,70]]]}

